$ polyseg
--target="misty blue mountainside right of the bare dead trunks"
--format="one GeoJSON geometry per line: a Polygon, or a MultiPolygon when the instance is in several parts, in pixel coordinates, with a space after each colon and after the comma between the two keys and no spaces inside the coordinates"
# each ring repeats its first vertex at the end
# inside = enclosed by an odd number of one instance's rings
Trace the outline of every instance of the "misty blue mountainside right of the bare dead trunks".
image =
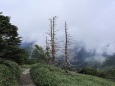
{"type": "Polygon", "coordinates": [[[91,68],[104,68],[114,67],[115,54],[109,55],[108,53],[97,53],[96,50],[87,50],[83,43],[77,42],[77,45],[73,45],[69,52],[73,52],[73,59],[75,62],[71,62],[74,65],[78,65],[78,68],[91,67],[91,68]]]}

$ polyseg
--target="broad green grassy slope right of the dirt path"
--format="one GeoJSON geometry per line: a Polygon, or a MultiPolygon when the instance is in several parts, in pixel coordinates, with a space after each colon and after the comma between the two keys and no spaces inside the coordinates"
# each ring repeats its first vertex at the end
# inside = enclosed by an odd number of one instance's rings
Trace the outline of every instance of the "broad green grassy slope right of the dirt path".
{"type": "Polygon", "coordinates": [[[35,64],[30,72],[39,86],[115,86],[115,82],[110,80],[74,72],[65,73],[48,64],[35,64]]]}

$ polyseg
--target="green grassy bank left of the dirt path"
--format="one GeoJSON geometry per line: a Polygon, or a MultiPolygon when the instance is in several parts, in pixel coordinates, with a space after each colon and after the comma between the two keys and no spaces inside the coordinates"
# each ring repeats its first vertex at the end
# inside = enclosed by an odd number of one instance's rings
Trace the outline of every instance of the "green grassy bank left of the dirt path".
{"type": "Polygon", "coordinates": [[[0,86],[18,86],[21,70],[13,61],[1,61],[0,86]]]}

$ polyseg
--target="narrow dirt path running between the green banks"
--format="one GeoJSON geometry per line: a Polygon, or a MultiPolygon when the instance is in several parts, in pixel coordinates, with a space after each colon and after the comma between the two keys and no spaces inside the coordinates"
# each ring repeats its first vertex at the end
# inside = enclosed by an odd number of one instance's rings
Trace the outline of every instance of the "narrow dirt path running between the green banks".
{"type": "Polygon", "coordinates": [[[24,69],[22,72],[19,86],[36,86],[31,79],[29,68],[24,69]]]}

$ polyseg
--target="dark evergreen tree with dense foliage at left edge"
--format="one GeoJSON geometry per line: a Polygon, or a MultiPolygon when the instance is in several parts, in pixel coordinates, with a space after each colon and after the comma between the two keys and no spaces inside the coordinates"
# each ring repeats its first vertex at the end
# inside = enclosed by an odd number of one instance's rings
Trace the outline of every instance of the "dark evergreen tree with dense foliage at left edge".
{"type": "Polygon", "coordinates": [[[19,48],[21,37],[17,31],[17,26],[10,23],[10,17],[0,13],[0,58],[23,63],[27,53],[19,48]]]}

